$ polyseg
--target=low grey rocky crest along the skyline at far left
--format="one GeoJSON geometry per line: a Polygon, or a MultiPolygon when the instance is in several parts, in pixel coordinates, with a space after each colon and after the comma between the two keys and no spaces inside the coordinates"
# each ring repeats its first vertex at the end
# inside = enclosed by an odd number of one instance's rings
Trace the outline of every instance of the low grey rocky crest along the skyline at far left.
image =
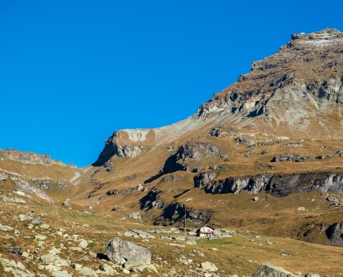
{"type": "MultiPolygon", "coordinates": [[[[42,164],[44,166],[65,166],[62,161],[53,160],[48,154],[41,155],[33,152],[19,151],[16,149],[0,149],[0,159],[6,160],[10,159],[13,161],[21,161],[21,163],[30,163],[30,164],[42,164]]],[[[76,166],[70,164],[69,166],[76,168],[76,166]]]]}

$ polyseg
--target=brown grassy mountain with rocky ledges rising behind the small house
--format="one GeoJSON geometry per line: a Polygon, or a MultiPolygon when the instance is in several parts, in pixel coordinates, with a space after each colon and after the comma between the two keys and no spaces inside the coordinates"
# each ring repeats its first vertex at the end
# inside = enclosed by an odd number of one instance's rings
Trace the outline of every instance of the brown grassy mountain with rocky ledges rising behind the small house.
{"type": "Polygon", "coordinates": [[[342,112],[343,33],[294,34],[185,120],[115,131],[85,168],[0,150],[0,179],[66,213],[343,246],[342,112]]]}

